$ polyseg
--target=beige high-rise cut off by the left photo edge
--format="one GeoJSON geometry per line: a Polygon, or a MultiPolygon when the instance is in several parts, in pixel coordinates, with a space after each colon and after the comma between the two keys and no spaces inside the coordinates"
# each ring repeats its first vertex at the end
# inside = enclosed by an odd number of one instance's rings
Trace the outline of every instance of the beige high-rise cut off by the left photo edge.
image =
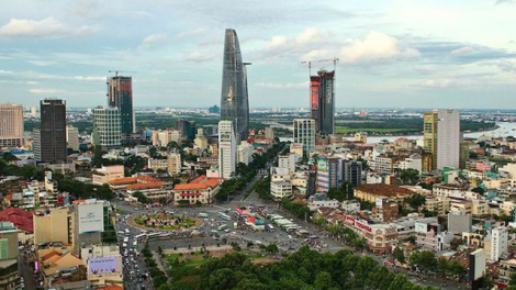
{"type": "Polygon", "coordinates": [[[23,145],[23,107],[14,103],[0,103],[0,147],[23,145]]]}

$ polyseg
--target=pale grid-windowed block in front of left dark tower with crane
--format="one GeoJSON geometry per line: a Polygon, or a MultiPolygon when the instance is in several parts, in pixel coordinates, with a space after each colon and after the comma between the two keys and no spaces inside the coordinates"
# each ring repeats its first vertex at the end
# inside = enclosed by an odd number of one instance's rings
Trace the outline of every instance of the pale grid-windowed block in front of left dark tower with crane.
{"type": "Polygon", "coordinates": [[[93,110],[93,144],[115,147],[122,144],[121,138],[120,110],[114,107],[97,107],[93,110]]]}

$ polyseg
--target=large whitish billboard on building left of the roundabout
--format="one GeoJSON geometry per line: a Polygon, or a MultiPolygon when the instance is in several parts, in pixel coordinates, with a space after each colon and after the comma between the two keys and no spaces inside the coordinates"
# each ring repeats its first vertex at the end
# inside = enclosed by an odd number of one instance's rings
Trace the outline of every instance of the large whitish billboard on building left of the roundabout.
{"type": "Polygon", "coordinates": [[[79,234],[104,232],[104,207],[102,203],[77,205],[79,234]]]}

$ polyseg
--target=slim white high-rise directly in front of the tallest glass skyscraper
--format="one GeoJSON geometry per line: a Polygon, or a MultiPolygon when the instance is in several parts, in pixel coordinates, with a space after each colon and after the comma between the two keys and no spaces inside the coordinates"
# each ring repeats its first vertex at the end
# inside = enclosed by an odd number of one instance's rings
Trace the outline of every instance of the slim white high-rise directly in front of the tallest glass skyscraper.
{"type": "Polygon", "coordinates": [[[236,167],[236,136],[233,122],[218,122],[218,171],[221,178],[231,178],[236,167]]]}

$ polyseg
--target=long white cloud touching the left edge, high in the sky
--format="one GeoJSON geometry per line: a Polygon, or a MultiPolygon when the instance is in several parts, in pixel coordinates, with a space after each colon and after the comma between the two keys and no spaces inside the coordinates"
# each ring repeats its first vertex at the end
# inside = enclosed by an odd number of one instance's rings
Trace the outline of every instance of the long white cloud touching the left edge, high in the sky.
{"type": "Polygon", "coordinates": [[[91,26],[70,27],[55,18],[43,20],[11,19],[0,27],[0,34],[7,37],[59,37],[94,32],[91,26]]]}

